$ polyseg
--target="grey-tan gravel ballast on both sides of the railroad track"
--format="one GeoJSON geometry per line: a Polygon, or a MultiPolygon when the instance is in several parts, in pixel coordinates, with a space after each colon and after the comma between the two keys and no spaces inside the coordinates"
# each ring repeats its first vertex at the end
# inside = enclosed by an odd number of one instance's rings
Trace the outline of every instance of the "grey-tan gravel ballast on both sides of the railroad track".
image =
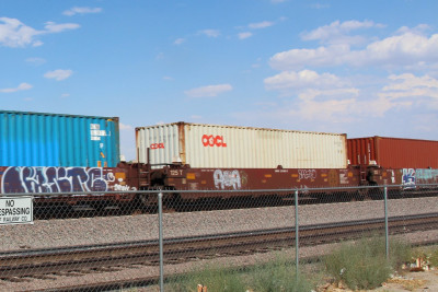
{"type": "MultiPolygon", "coordinates": [[[[438,198],[412,198],[390,200],[390,217],[413,215],[438,212],[438,198]]],[[[342,202],[330,205],[307,205],[299,207],[300,225],[356,221],[384,217],[382,201],[342,202]]],[[[1,250],[23,250],[27,248],[50,248],[77,245],[93,245],[115,242],[157,240],[159,234],[157,214],[137,214],[124,217],[99,217],[82,219],[37,220],[32,225],[3,225],[1,250]]],[[[251,231],[293,226],[295,207],[270,207],[240,210],[165,213],[163,214],[164,238],[193,236],[214,233],[251,231]]],[[[438,231],[418,232],[402,235],[406,241],[428,241],[438,238],[438,231]]],[[[303,247],[300,256],[324,254],[330,245],[303,247]]],[[[290,256],[293,252],[288,250],[290,256]]],[[[273,253],[262,255],[217,258],[214,261],[227,265],[247,265],[272,258],[273,253]]],[[[168,275],[187,271],[193,265],[199,266],[206,260],[169,265],[168,275]]],[[[74,283],[103,282],[108,279],[122,281],[147,275],[158,276],[159,268],[136,267],[119,271],[83,275],[78,277],[55,276],[55,279],[32,279],[30,282],[12,283],[1,281],[0,289],[14,291],[72,285],[74,283]]]]}

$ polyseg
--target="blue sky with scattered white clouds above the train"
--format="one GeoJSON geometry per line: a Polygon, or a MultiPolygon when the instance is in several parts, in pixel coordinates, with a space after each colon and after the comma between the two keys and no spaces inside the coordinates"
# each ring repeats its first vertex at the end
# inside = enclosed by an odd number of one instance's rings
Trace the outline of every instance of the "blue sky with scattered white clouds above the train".
{"type": "Polygon", "coordinates": [[[1,109],[438,140],[436,0],[1,0],[1,109]]]}

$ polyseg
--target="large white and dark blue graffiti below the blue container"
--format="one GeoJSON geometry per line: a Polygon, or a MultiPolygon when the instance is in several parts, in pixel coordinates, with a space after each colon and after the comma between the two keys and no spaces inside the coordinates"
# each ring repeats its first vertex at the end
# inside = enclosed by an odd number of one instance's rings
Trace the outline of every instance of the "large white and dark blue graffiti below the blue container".
{"type": "Polygon", "coordinates": [[[1,177],[1,192],[67,192],[131,189],[102,167],[11,166],[1,177]]]}

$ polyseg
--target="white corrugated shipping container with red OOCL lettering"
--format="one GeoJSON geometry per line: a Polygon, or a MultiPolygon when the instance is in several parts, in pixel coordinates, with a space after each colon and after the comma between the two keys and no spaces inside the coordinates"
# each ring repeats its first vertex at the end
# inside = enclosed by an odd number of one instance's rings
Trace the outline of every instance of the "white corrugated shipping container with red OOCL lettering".
{"type": "Polygon", "coordinates": [[[136,128],[139,161],[199,168],[346,168],[346,135],[174,122],[136,128]]]}

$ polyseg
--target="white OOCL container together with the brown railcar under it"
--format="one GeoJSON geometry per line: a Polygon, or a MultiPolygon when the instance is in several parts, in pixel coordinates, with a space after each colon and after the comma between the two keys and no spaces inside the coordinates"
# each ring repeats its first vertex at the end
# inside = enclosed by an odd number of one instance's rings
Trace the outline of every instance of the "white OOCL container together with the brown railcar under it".
{"type": "Polygon", "coordinates": [[[139,161],[158,168],[154,184],[175,189],[243,191],[358,184],[356,171],[347,168],[344,133],[174,122],[136,128],[136,138],[139,161]]]}

